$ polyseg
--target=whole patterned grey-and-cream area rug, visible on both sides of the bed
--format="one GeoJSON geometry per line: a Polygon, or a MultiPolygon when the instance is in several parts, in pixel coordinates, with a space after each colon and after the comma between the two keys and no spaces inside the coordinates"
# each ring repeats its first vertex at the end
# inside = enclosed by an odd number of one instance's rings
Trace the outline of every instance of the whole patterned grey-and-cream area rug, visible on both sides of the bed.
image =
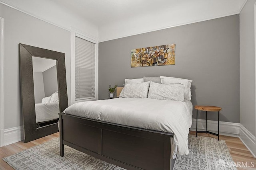
{"type": "MultiPolygon", "coordinates": [[[[225,141],[188,135],[188,142],[190,153],[176,158],[174,170],[236,170],[227,166],[232,158],[225,141]]],[[[56,138],[3,160],[16,170],[124,170],[68,146],[60,157],[59,146],[56,138]]]]}

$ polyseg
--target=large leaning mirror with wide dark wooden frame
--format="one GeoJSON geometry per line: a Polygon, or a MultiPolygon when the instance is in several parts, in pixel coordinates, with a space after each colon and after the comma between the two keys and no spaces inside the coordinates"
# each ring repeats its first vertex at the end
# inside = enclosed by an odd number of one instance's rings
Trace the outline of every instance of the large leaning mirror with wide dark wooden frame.
{"type": "Polygon", "coordinates": [[[65,54],[19,44],[24,142],[58,132],[68,107],[65,54]]]}

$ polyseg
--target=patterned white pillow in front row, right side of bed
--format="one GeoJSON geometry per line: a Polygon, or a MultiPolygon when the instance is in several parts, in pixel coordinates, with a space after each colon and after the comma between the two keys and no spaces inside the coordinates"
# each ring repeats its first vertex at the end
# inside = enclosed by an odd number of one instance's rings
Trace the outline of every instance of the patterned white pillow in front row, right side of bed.
{"type": "Polygon", "coordinates": [[[148,98],[184,101],[184,85],[180,83],[159,84],[150,82],[148,98]]]}

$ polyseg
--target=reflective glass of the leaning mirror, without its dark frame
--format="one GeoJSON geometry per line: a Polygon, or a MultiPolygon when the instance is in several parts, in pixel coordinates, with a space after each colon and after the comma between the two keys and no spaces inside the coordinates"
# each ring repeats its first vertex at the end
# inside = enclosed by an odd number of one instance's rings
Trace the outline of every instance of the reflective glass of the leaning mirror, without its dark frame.
{"type": "Polygon", "coordinates": [[[36,128],[58,123],[60,112],[56,60],[32,57],[36,128]]]}

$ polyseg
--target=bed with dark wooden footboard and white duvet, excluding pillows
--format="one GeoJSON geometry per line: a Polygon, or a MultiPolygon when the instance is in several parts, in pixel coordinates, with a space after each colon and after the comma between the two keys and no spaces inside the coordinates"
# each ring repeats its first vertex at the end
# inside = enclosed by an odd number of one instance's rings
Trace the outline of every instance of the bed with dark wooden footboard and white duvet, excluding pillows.
{"type": "Polygon", "coordinates": [[[80,102],[60,113],[60,156],[67,145],[129,170],[170,170],[171,159],[188,154],[191,125],[184,97],[80,102]]]}

